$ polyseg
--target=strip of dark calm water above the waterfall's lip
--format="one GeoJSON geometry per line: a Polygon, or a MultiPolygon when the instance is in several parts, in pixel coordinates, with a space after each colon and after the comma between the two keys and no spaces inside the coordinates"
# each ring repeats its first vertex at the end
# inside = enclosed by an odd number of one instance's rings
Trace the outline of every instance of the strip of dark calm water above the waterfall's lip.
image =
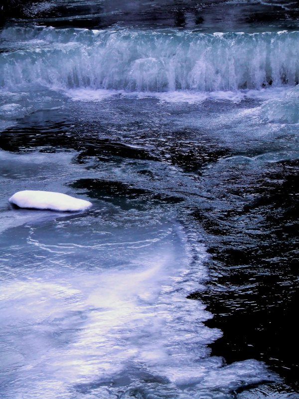
{"type": "Polygon", "coordinates": [[[212,31],[296,29],[296,1],[42,1],[10,11],[12,16],[56,27],[121,26],[199,28],[212,31]],[[16,14],[17,12],[17,14],[16,14]],[[14,14],[13,14],[14,13],[14,14]]]}

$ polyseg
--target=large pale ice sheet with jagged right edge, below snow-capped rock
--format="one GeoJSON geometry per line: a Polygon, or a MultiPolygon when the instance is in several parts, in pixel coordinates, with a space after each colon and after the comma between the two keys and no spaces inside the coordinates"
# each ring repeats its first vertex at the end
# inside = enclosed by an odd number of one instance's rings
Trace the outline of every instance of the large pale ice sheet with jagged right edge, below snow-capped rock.
{"type": "MultiPolygon", "coordinates": [[[[51,180],[59,180],[59,166],[71,167],[68,154],[11,156],[27,164],[32,157],[31,167],[47,162],[51,180]]],[[[11,164],[11,176],[18,165],[11,164]]],[[[22,184],[28,171],[22,168],[22,184]]],[[[98,200],[84,214],[63,217],[9,212],[14,226],[10,218],[1,233],[3,398],[110,398],[136,390],[222,398],[260,381],[260,373],[273,379],[254,360],[222,367],[209,357],[207,344],[221,332],[204,326],[211,315],[203,304],[186,299],[207,277],[206,251],[171,207],[98,200]]]]}

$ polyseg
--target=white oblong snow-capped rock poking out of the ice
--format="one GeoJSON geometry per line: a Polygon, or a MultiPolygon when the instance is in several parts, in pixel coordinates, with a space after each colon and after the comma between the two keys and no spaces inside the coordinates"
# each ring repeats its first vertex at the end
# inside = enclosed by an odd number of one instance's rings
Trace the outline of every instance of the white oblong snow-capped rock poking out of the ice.
{"type": "Polygon", "coordinates": [[[8,200],[20,208],[48,209],[74,212],[89,208],[92,203],[62,193],[51,191],[25,190],[15,193],[8,200]]]}

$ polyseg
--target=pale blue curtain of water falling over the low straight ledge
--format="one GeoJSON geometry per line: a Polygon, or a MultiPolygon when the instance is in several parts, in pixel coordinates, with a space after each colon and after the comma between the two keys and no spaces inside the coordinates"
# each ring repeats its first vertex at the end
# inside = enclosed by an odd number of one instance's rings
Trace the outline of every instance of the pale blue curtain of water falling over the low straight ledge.
{"type": "Polygon", "coordinates": [[[260,89],[299,81],[298,32],[7,28],[0,85],[126,91],[260,89]],[[13,48],[11,48],[13,46],[13,48]]]}

